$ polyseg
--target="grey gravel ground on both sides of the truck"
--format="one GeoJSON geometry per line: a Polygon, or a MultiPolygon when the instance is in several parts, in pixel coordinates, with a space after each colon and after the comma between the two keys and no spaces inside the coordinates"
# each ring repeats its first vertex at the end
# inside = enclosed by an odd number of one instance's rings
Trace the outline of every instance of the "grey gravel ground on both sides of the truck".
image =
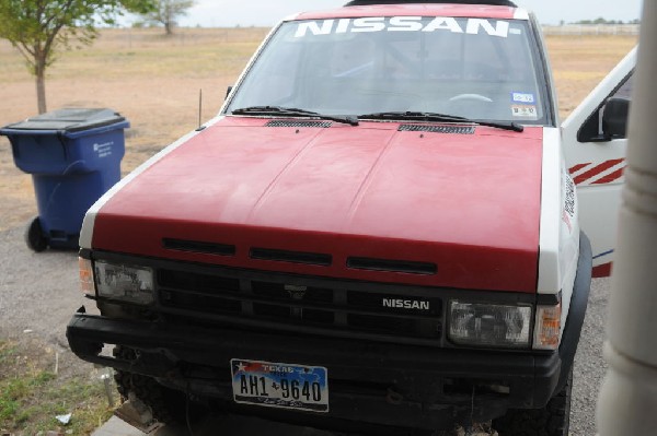
{"type": "MultiPolygon", "coordinates": [[[[596,433],[596,400],[607,368],[602,360],[602,341],[609,294],[609,280],[593,281],[575,362],[573,436],[596,433]]],[[[91,365],[77,360],[68,351],[65,334],[71,315],[85,303],[90,309],[90,302],[85,302],[78,291],[74,251],[34,254],[23,241],[22,228],[0,232],[0,339],[38,337],[60,352],[62,370],[91,370],[91,365]]],[[[265,431],[266,426],[263,427],[265,431]]],[[[221,434],[241,433],[222,429],[221,434]]]]}

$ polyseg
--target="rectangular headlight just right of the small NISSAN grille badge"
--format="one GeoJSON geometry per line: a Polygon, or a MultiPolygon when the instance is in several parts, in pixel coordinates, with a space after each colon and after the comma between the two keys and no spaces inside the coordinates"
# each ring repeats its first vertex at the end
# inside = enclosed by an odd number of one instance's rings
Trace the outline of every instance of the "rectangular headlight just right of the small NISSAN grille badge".
{"type": "Polygon", "coordinates": [[[451,301],[449,339],[459,345],[529,347],[531,306],[451,301]]]}

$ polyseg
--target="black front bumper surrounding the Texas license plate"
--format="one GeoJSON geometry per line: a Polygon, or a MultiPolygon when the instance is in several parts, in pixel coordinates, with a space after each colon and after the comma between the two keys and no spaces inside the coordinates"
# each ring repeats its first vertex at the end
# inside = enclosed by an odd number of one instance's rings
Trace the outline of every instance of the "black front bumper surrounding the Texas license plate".
{"type": "MultiPolygon", "coordinates": [[[[558,353],[364,344],[194,327],[174,330],[82,313],[71,319],[67,335],[72,351],[84,361],[155,377],[170,387],[227,402],[232,400],[231,358],[325,366],[331,387],[327,415],[276,410],[279,420],[308,423],[333,419],[450,428],[454,422],[485,422],[508,408],[544,405],[562,366],[558,353]],[[100,355],[102,344],[138,350],[139,357],[127,362],[100,355]]],[[[254,413],[244,410],[253,406],[233,408],[254,413]]],[[[263,408],[262,413],[272,411],[263,408]]]]}

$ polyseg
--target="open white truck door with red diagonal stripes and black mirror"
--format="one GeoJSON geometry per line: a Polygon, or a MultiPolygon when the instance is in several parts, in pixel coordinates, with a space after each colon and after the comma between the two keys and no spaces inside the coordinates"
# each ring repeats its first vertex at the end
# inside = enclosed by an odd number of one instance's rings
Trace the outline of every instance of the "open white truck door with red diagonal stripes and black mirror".
{"type": "Polygon", "coordinates": [[[591,240],[593,276],[611,274],[627,150],[636,48],[563,123],[566,166],[577,186],[579,222],[591,240]]]}

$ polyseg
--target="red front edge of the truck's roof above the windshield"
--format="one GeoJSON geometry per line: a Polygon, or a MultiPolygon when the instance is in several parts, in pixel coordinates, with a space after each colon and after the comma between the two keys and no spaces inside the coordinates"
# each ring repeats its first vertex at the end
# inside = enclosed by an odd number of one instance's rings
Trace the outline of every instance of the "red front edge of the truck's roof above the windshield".
{"type": "Polygon", "coordinates": [[[470,19],[512,20],[515,8],[477,4],[380,4],[350,7],[331,11],[307,12],[296,20],[354,19],[361,16],[453,16],[470,19]]]}

